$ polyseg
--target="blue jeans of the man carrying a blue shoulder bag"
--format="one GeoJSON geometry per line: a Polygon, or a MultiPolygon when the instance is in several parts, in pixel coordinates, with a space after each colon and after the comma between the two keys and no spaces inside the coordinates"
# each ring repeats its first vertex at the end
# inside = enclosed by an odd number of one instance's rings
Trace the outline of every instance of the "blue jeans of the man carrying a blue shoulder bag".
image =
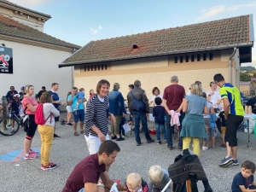
{"type": "Polygon", "coordinates": [[[136,141],[141,142],[140,130],[139,130],[140,120],[142,120],[144,135],[145,135],[147,140],[150,140],[151,137],[149,136],[149,133],[148,133],[148,124],[147,124],[146,112],[145,111],[133,110],[132,114],[133,114],[134,120],[135,120],[134,131],[135,131],[136,141]]]}

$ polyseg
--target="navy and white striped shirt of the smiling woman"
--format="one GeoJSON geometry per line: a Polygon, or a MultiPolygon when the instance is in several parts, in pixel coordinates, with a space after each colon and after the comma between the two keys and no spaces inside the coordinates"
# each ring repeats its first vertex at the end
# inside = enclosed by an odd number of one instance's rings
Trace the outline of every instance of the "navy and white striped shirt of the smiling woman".
{"type": "Polygon", "coordinates": [[[102,134],[108,134],[108,96],[104,97],[104,102],[101,102],[97,95],[94,95],[86,104],[84,115],[84,134],[86,137],[96,136],[95,131],[91,127],[95,125],[102,134]]]}

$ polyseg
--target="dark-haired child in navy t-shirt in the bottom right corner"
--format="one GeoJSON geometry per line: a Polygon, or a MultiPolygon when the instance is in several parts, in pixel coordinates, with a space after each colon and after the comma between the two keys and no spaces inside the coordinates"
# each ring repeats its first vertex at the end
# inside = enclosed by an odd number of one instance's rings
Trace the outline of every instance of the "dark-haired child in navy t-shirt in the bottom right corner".
{"type": "Polygon", "coordinates": [[[231,186],[232,192],[255,192],[256,182],[254,182],[253,174],[255,172],[255,164],[249,160],[241,164],[241,172],[238,172],[233,179],[231,186]]]}

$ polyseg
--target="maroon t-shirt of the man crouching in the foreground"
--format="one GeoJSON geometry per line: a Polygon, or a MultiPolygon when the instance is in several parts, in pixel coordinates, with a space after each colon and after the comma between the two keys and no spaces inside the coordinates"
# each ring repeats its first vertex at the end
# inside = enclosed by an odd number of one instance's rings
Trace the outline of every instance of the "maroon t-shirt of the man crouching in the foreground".
{"type": "Polygon", "coordinates": [[[79,191],[84,183],[98,183],[102,172],[106,172],[105,164],[99,165],[97,154],[90,154],[74,167],[62,192],[79,191]]]}

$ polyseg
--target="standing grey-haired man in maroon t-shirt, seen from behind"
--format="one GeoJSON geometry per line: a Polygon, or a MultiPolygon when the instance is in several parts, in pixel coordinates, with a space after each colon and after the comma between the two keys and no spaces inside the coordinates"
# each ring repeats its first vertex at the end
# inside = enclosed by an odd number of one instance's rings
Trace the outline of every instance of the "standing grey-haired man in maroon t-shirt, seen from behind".
{"type": "MultiPolygon", "coordinates": [[[[167,86],[164,90],[163,95],[163,107],[166,108],[166,137],[167,137],[167,147],[169,150],[172,150],[172,131],[174,130],[174,125],[171,126],[172,113],[171,110],[175,112],[179,112],[179,123],[178,126],[179,132],[182,130],[182,121],[184,119],[184,113],[182,110],[177,111],[177,109],[181,106],[183,102],[183,98],[185,97],[185,89],[183,86],[178,84],[177,76],[172,76],[171,85],[167,86]]],[[[183,149],[183,141],[182,137],[179,137],[178,140],[178,149],[183,149]]]]}

